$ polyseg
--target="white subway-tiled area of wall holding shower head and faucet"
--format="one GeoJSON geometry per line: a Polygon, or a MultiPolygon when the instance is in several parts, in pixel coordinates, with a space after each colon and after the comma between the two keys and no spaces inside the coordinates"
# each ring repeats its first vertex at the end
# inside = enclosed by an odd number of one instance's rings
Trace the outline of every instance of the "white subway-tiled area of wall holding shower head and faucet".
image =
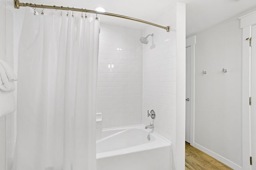
{"type": "Polygon", "coordinates": [[[175,145],[176,141],[176,33],[155,27],[144,29],[148,45],[143,57],[143,124],[154,123],[156,133],[175,145]],[[147,117],[147,110],[154,109],[156,118],[147,117]]]}

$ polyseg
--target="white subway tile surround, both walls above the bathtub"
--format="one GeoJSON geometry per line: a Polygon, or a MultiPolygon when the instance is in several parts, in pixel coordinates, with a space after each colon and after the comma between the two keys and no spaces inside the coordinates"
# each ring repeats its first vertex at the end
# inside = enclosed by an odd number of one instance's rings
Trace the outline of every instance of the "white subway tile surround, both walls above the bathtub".
{"type": "Polygon", "coordinates": [[[154,109],[155,131],[175,143],[176,33],[144,29],[144,37],[151,33],[155,48],[152,37],[143,47],[140,29],[101,24],[96,111],[109,128],[149,125],[154,109]]]}

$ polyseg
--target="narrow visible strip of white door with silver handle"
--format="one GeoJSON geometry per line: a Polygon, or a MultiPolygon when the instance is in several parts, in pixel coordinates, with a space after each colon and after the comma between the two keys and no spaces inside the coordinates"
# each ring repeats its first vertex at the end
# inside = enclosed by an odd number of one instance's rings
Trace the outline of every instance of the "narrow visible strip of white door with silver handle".
{"type": "Polygon", "coordinates": [[[186,136],[185,141],[190,143],[190,70],[191,47],[186,47],[186,136]]]}

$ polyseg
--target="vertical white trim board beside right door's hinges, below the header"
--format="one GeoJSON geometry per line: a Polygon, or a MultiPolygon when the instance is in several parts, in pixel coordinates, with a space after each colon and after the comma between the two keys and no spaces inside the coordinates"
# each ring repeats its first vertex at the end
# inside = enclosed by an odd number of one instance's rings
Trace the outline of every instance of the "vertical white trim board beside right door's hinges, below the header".
{"type": "Polygon", "coordinates": [[[243,28],[242,33],[242,164],[243,170],[250,170],[250,42],[252,26],[243,28]]]}

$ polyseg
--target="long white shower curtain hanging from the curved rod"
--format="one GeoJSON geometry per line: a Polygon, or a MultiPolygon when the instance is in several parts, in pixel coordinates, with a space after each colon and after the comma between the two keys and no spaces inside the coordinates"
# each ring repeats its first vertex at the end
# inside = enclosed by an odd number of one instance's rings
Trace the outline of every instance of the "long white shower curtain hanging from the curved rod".
{"type": "Polygon", "coordinates": [[[13,170],[96,170],[99,22],[41,10],[20,37],[13,170]]]}

